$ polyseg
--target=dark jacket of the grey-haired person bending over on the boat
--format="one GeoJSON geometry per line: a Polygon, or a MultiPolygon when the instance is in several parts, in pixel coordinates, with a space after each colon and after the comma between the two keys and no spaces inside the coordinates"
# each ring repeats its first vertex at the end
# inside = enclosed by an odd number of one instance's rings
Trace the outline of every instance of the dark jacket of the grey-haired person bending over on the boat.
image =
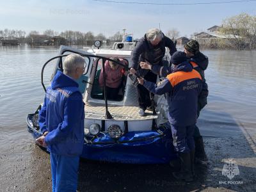
{"type": "MultiPolygon", "coordinates": [[[[170,55],[177,51],[175,44],[170,38],[163,36],[163,39],[156,46],[152,46],[146,35],[136,42],[131,52],[131,67],[138,70],[140,61],[148,61],[152,65],[159,64],[165,54],[165,47],[170,49],[170,55]]],[[[141,68],[140,68],[141,70],[141,68]]],[[[148,70],[145,70],[148,71],[148,70]]]]}

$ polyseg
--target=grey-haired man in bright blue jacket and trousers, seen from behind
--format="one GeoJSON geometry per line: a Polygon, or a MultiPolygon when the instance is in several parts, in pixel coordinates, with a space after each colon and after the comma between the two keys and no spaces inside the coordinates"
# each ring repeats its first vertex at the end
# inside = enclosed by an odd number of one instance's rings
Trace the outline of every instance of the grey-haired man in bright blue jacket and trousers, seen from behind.
{"type": "Polygon", "coordinates": [[[76,79],[84,59],[70,54],[47,88],[39,113],[43,136],[36,141],[51,152],[52,191],[76,191],[79,156],[84,141],[84,102],[76,79]]]}

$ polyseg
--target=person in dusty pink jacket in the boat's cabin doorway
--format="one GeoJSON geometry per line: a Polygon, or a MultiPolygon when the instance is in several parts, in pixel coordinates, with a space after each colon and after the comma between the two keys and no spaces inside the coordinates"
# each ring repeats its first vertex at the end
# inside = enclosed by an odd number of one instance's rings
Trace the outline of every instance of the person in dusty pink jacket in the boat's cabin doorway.
{"type": "MultiPolygon", "coordinates": [[[[110,58],[111,60],[118,61],[127,65],[125,60],[119,59],[117,57],[110,58]]],[[[105,77],[106,77],[106,94],[107,98],[111,100],[118,100],[118,92],[122,87],[122,80],[124,76],[127,76],[127,73],[124,70],[124,67],[118,65],[113,61],[105,62],[105,77]]],[[[103,68],[100,71],[99,76],[99,85],[103,88],[103,68]]]]}

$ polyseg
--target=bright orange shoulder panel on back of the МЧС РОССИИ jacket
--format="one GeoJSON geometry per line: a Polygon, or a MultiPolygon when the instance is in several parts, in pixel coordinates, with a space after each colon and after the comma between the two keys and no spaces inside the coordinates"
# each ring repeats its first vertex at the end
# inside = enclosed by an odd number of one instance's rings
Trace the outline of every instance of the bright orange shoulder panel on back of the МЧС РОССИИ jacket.
{"type": "Polygon", "coordinates": [[[191,72],[178,71],[167,76],[167,79],[170,81],[173,87],[182,81],[195,78],[202,80],[202,77],[195,69],[193,69],[191,72]]]}

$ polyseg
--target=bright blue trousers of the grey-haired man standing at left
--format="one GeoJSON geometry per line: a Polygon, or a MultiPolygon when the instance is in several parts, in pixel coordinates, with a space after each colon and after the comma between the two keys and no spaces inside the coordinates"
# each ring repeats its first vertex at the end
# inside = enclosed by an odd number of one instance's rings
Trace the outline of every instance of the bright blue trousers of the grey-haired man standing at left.
{"type": "Polygon", "coordinates": [[[79,156],[69,157],[51,153],[52,192],[75,191],[79,156]]]}

